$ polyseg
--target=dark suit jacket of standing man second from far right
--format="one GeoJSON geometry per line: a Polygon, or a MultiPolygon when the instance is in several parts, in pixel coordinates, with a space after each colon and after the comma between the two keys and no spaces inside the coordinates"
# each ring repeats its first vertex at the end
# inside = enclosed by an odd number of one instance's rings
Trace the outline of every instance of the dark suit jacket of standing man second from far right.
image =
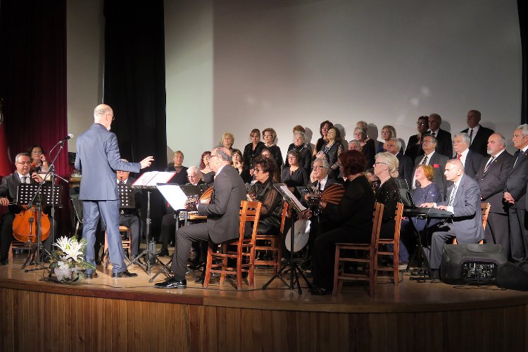
{"type": "Polygon", "coordinates": [[[491,162],[488,170],[484,172],[486,163],[490,158],[491,156],[484,159],[475,176],[475,180],[479,184],[482,201],[491,204],[489,211],[491,213],[505,214],[503,191],[504,183],[508,179],[512,166],[512,156],[508,151],[503,151],[500,156],[491,162]]]}

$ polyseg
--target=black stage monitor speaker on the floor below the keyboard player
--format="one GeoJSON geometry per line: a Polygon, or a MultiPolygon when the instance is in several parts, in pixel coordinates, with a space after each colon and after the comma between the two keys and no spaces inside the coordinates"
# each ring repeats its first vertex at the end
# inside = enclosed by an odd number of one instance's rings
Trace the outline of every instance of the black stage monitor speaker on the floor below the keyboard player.
{"type": "Polygon", "coordinates": [[[447,284],[494,284],[507,262],[500,244],[444,244],[440,275],[447,284]]]}

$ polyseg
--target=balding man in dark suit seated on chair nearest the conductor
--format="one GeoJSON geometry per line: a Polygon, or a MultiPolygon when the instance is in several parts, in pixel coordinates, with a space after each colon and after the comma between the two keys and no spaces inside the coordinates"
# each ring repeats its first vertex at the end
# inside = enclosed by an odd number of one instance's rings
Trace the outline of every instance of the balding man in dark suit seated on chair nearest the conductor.
{"type": "Polygon", "coordinates": [[[187,258],[193,241],[213,241],[220,244],[239,237],[240,202],[246,199],[246,187],[231,163],[231,151],[219,146],[210,153],[209,165],[215,172],[215,184],[210,204],[198,204],[199,215],[207,222],[180,227],[176,234],[176,251],[172,256],[172,272],[165,282],[155,284],[160,289],[185,289],[187,258]]]}

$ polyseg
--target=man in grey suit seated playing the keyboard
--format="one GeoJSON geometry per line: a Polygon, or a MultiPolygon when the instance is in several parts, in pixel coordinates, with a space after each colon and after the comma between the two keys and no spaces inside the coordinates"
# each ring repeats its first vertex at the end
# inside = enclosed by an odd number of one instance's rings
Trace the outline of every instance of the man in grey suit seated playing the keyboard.
{"type": "Polygon", "coordinates": [[[439,278],[444,243],[455,237],[459,244],[475,244],[484,239],[479,184],[464,174],[464,165],[456,159],[447,162],[445,173],[446,179],[454,182],[448,189],[448,201],[420,204],[422,207],[434,207],[453,213],[453,218],[437,225],[432,234],[429,265],[435,279],[439,278]]]}

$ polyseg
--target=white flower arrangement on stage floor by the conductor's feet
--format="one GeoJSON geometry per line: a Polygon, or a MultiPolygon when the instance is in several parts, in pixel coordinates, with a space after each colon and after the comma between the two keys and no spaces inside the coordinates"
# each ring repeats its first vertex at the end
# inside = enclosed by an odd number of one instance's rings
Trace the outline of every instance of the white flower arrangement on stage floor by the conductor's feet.
{"type": "Polygon", "coordinates": [[[85,260],[86,239],[77,241],[75,238],[61,237],[54,246],[56,251],[51,251],[51,272],[55,272],[60,282],[74,282],[82,279],[84,270],[95,270],[95,265],[85,260]]]}

